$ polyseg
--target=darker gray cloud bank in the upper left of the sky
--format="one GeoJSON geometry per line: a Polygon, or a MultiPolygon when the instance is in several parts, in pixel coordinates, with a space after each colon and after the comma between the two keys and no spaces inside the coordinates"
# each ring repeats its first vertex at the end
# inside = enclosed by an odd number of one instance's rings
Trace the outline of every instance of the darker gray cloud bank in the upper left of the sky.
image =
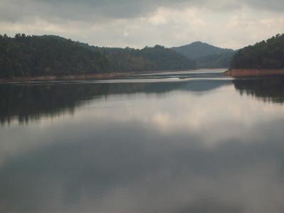
{"type": "Polygon", "coordinates": [[[23,18],[39,16],[47,20],[63,19],[102,21],[115,18],[134,18],[151,13],[158,6],[169,4],[168,1],[23,1],[3,0],[1,3],[1,20],[20,21],[23,18]]]}

